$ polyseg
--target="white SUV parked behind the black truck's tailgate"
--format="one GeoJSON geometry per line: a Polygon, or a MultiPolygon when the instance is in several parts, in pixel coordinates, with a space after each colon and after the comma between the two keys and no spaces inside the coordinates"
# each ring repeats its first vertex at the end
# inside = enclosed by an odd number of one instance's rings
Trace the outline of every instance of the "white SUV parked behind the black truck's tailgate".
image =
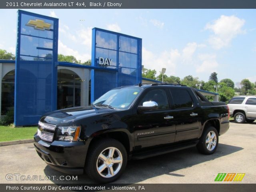
{"type": "Polygon", "coordinates": [[[256,96],[234,96],[228,102],[230,116],[236,123],[256,120],[256,96]]]}

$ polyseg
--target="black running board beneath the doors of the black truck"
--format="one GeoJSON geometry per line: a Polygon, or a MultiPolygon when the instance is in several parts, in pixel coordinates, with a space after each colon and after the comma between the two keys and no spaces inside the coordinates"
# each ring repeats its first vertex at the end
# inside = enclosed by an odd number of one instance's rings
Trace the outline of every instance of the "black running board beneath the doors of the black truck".
{"type": "Polygon", "coordinates": [[[183,143],[175,146],[166,146],[164,148],[149,150],[146,152],[133,154],[132,159],[145,159],[145,158],[162,155],[162,154],[166,154],[166,153],[170,153],[170,152],[174,152],[174,151],[178,151],[186,148],[191,148],[196,146],[197,143],[198,141],[193,141],[193,142],[183,143]]]}

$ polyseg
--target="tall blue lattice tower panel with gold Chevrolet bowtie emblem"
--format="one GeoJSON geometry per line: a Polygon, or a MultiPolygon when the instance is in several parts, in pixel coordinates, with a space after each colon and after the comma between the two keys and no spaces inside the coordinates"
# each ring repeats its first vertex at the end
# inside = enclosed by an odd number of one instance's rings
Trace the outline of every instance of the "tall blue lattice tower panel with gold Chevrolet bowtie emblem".
{"type": "Polygon", "coordinates": [[[14,124],[56,110],[58,19],[18,10],[14,124]]]}

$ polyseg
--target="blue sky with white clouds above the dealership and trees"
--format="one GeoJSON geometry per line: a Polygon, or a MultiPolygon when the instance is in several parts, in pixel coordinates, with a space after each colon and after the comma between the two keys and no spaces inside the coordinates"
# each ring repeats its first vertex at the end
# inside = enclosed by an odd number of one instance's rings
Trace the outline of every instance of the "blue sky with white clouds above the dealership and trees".
{"type": "MultiPolygon", "coordinates": [[[[26,9],[59,18],[58,53],[91,59],[92,28],[142,38],[142,65],[157,74],[256,82],[255,9],[26,9]]],[[[17,10],[0,10],[0,49],[15,53],[17,10]]]]}

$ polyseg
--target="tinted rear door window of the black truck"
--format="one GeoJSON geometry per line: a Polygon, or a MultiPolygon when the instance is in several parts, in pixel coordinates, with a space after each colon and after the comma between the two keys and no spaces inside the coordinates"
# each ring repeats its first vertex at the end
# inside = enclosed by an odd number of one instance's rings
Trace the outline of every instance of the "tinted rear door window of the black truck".
{"type": "Polygon", "coordinates": [[[173,89],[171,93],[175,108],[189,108],[193,106],[192,98],[187,90],[173,89]]]}

